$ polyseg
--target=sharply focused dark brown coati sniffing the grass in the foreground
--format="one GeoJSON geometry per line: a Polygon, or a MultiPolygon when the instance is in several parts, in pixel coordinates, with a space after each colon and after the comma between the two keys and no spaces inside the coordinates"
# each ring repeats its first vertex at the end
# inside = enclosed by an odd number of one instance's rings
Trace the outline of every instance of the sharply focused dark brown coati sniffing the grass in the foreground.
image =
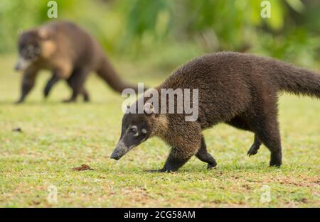
{"type": "MultiPolygon", "coordinates": [[[[155,90],[179,88],[198,89],[196,121],[185,121],[184,113],[156,113],[154,106],[143,99],[142,113],[124,114],[122,133],[111,158],[119,160],[144,140],[158,136],[171,146],[160,172],[178,170],[193,155],[212,168],[217,163],[207,152],[201,131],[227,123],[255,133],[248,155],[255,155],[263,143],[271,152],[270,166],[279,167],[282,165],[282,147],[277,93],[288,91],[319,98],[320,75],[268,57],[218,52],[186,63],[155,90]]],[[[134,105],[138,102],[139,99],[134,105]]]]}

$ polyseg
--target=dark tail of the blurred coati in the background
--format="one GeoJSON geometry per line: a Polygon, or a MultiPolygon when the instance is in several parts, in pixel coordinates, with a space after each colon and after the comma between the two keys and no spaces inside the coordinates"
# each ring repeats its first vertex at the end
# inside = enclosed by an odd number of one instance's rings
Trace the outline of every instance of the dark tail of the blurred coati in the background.
{"type": "Polygon", "coordinates": [[[97,70],[97,74],[107,82],[107,84],[114,89],[114,91],[118,91],[122,93],[124,89],[130,88],[134,89],[136,93],[138,92],[138,86],[134,86],[132,84],[128,84],[124,82],[119,74],[114,70],[110,62],[107,58],[104,58],[101,62],[100,68],[97,70]]]}

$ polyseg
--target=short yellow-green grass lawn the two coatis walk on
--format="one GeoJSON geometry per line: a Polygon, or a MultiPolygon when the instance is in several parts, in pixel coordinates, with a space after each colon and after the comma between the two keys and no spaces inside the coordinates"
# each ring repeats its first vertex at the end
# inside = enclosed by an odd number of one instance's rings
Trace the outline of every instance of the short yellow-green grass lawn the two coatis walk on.
{"type": "MultiPolygon", "coordinates": [[[[115,63],[115,62],[114,62],[115,63]]],[[[64,83],[43,101],[47,72],[25,104],[16,106],[21,74],[13,57],[0,57],[0,206],[320,206],[320,101],[281,96],[279,122],[284,164],[268,167],[262,146],[247,157],[253,135],[219,125],[205,132],[218,167],[193,157],[177,173],[149,173],[162,167],[169,148],[151,138],[115,162],[109,158],[119,139],[124,99],[90,77],[92,102],[61,104],[70,91],[64,83]],[[23,133],[12,131],[20,127],[23,133]],[[82,164],[94,170],[74,172],[82,164]],[[48,187],[58,202],[47,201],[48,187]],[[262,202],[262,186],[271,201],[262,202]]],[[[154,64],[117,62],[128,81],[159,84],[169,72],[154,64]]]]}

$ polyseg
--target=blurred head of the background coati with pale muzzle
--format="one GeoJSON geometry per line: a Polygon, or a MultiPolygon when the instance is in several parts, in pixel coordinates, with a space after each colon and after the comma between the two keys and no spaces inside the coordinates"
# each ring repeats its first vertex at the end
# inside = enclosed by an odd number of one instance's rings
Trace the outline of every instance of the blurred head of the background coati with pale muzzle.
{"type": "MultiPolygon", "coordinates": [[[[25,70],[29,65],[38,60],[46,49],[49,33],[44,28],[32,29],[21,33],[18,40],[19,58],[15,70],[25,70]]],[[[52,48],[52,47],[51,47],[52,48]]]]}

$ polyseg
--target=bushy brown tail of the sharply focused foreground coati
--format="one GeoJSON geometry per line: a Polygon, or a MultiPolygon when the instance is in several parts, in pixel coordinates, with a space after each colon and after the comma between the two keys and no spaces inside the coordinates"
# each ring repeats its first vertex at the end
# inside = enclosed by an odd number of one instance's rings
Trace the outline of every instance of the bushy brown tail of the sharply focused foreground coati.
{"type": "Polygon", "coordinates": [[[274,67],[280,91],[320,98],[320,74],[284,62],[274,67]]]}

